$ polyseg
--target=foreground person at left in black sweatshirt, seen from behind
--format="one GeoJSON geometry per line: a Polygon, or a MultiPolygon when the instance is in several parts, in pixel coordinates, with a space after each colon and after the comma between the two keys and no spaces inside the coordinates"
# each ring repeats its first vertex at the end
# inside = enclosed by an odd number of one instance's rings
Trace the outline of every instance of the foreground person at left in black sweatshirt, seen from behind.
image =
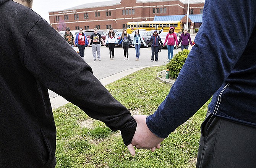
{"type": "MultiPolygon", "coordinates": [[[[32,0],[19,2],[32,6],[32,0]]],[[[120,130],[125,145],[131,144],[136,121],[130,111],[70,44],[26,6],[0,0],[0,11],[5,39],[0,42],[0,167],[56,165],[56,127],[47,89],[120,130]]]]}

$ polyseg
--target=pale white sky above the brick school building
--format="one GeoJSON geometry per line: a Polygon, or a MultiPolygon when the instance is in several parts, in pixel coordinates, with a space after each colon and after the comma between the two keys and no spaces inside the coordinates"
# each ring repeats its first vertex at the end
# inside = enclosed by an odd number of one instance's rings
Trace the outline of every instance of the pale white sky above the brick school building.
{"type": "MultiPolygon", "coordinates": [[[[105,2],[110,0],[93,0],[93,2],[105,2]]],[[[83,5],[85,3],[92,3],[90,0],[34,0],[32,10],[38,13],[48,23],[49,12],[65,10],[74,6],[83,5]]]]}

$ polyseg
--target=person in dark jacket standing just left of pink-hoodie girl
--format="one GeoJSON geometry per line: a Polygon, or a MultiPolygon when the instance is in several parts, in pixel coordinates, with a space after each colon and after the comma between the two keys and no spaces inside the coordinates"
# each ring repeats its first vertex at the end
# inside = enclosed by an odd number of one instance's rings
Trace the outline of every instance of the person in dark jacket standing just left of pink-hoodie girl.
{"type": "Polygon", "coordinates": [[[146,44],[149,44],[150,41],[152,41],[151,44],[151,62],[158,61],[158,49],[159,49],[159,42],[163,45],[160,36],[158,35],[157,31],[155,30],[153,35],[150,37],[149,41],[147,41],[146,44]]]}

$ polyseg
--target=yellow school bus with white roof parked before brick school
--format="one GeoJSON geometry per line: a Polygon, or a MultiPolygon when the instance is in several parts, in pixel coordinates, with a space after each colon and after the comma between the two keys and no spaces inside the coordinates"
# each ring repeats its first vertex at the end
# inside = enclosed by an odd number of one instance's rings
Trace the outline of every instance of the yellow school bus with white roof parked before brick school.
{"type": "Polygon", "coordinates": [[[127,33],[132,33],[136,29],[161,30],[168,32],[170,27],[175,28],[175,32],[182,32],[182,21],[142,21],[142,22],[127,22],[127,33]]]}

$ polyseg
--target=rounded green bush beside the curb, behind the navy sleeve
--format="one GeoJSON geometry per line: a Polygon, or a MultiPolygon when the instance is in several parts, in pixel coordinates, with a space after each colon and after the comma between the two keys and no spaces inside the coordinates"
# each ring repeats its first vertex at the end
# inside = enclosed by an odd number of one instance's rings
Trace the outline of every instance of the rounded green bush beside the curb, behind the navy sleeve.
{"type": "Polygon", "coordinates": [[[166,68],[170,70],[170,78],[176,79],[178,77],[178,74],[180,73],[180,70],[185,63],[189,52],[190,51],[187,49],[179,51],[177,54],[174,55],[173,59],[171,59],[170,62],[166,64],[166,68]]]}

